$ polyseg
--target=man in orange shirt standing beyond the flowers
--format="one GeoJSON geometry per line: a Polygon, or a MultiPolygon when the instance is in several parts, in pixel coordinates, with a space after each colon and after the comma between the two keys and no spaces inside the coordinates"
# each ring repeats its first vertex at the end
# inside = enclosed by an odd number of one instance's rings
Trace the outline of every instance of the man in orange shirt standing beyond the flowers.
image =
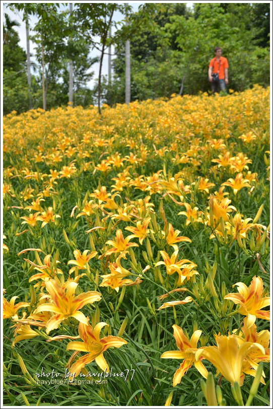
{"type": "Polygon", "coordinates": [[[212,84],[213,94],[218,91],[218,86],[220,91],[227,92],[226,84],[229,83],[228,76],[228,60],[225,57],[222,57],[222,48],[215,47],[214,49],[215,57],[211,59],[209,65],[209,81],[212,84]]]}

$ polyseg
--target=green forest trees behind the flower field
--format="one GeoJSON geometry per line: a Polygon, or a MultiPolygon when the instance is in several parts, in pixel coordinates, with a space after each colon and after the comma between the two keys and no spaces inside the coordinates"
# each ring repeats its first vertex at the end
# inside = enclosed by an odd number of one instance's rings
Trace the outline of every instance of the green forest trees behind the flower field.
{"type": "Polygon", "coordinates": [[[210,91],[208,65],[214,47],[223,49],[229,61],[229,88],[243,91],[270,81],[269,3],[145,3],[136,13],[130,4],[10,3],[23,11],[24,19],[37,16],[30,38],[36,44],[36,61],[29,77],[27,54],[19,46],[15,27],[4,14],[3,112],[18,113],[43,108],[42,71],[46,109],[69,102],[70,66],[73,63],[75,106],[125,102],[125,42],[130,42],[130,100],[169,98],[172,94],[210,91]],[[66,9],[64,10],[63,7],[66,9]],[[114,11],[124,15],[113,21],[114,11]],[[114,27],[110,35],[109,26],[114,27]],[[99,39],[98,39],[99,38],[99,39]],[[97,40],[98,39],[98,40],[97,40]],[[92,65],[114,49],[111,78],[99,75],[95,86],[92,65]],[[99,50],[100,57],[90,52],[99,50]]]}

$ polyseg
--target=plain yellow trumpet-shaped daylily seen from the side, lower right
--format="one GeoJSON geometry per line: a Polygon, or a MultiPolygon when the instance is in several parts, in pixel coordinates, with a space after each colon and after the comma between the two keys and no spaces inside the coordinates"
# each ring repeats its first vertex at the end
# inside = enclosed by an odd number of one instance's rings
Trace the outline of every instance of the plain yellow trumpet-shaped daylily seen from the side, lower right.
{"type": "Polygon", "coordinates": [[[224,378],[234,385],[238,382],[242,385],[244,360],[253,349],[258,349],[262,354],[264,348],[257,343],[241,343],[235,334],[216,336],[217,347],[204,347],[196,352],[196,360],[207,359],[224,378]]]}

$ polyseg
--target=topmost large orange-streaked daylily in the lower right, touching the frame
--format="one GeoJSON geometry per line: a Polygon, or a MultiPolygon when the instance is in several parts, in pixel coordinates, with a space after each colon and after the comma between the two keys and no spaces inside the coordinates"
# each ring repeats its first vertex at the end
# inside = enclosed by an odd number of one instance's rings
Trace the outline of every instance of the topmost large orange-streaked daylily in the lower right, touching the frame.
{"type": "Polygon", "coordinates": [[[246,315],[248,326],[251,326],[256,317],[270,320],[270,311],[262,311],[261,308],[270,305],[270,297],[263,297],[263,282],[260,277],[254,276],[249,287],[244,283],[236,283],[239,293],[227,294],[224,299],[231,300],[234,304],[240,304],[238,312],[246,315]]]}

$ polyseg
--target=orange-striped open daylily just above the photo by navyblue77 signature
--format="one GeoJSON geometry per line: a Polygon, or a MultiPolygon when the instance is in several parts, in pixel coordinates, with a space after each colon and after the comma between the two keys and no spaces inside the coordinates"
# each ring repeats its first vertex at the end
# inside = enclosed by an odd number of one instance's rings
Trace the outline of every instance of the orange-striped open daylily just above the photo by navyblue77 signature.
{"type": "Polygon", "coordinates": [[[120,338],[119,336],[108,335],[100,339],[100,331],[105,325],[107,325],[106,322],[99,322],[93,328],[90,324],[85,325],[80,322],[79,335],[83,342],[72,341],[67,344],[67,351],[75,350],[88,352],[87,355],[79,358],[70,368],[70,373],[74,374],[75,372],[75,377],[79,375],[81,369],[83,369],[85,365],[94,360],[102,371],[109,372],[108,364],[103,356],[104,351],[110,347],[120,348],[122,345],[127,344],[125,339],[120,338]]]}

